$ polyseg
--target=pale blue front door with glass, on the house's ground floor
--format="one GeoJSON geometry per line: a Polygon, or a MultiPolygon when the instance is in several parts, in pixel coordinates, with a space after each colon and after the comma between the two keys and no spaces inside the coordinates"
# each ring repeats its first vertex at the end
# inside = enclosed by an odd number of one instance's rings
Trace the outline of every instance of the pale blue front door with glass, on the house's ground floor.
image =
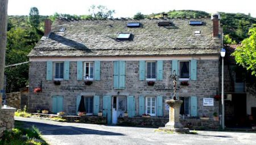
{"type": "Polygon", "coordinates": [[[124,117],[126,111],[126,97],[113,96],[112,123],[117,123],[118,117],[124,117]]]}

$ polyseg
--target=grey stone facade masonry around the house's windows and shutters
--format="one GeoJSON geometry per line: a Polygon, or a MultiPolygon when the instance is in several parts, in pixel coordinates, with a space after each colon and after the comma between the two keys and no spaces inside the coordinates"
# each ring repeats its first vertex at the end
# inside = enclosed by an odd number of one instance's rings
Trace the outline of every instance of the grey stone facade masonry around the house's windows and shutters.
{"type": "MultiPolygon", "coordinates": [[[[170,58],[171,59],[171,58],[170,58]]],[[[135,96],[135,114],[139,112],[139,96],[163,96],[163,104],[173,95],[171,74],[171,61],[163,61],[163,81],[155,81],[154,86],[148,86],[147,81],[139,81],[139,61],[126,61],[126,88],[113,89],[113,61],[101,61],[100,81],[86,86],[84,80],[76,79],[76,62],[70,62],[69,80],[61,81],[60,86],[53,84],[53,80],[46,80],[46,62],[31,62],[29,70],[29,96],[28,107],[30,111],[36,108],[52,110],[53,95],[63,95],[64,112],[76,114],[76,96],[100,96],[100,110],[102,110],[102,98],[110,96],[135,96]],[[42,92],[34,93],[36,87],[40,87],[42,80],[42,92]],[[118,94],[119,92],[119,94],[118,94]]],[[[218,102],[214,106],[203,106],[204,97],[214,97],[219,87],[219,61],[197,60],[197,80],[189,80],[189,86],[180,86],[178,82],[177,95],[179,97],[197,96],[198,116],[212,116],[218,112],[218,102]]],[[[163,106],[164,109],[164,106],[163,106]]],[[[168,116],[168,110],[163,110],[164,116],[168,116]]]]}

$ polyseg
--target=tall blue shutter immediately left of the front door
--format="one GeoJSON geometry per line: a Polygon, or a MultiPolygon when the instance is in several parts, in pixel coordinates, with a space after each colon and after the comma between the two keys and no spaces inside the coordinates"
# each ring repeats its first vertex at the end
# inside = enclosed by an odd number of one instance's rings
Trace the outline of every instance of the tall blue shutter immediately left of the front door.
{"type": "Polygon", "coordinates": [[[103,96],[103,116],[106,117],[108,114],[108,124],[112,123],[112,97],[111,96],[103,96]]]}

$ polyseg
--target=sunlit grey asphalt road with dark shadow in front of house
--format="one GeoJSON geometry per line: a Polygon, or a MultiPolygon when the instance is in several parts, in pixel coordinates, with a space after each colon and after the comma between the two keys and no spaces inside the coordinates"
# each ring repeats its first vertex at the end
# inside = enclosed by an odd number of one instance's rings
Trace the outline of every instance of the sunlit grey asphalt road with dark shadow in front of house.
{"type": "Polygon", "coordinates": [[[35,125],[43,138],[52,145],[59,144],[256,144],[255,133],[197,131],[197,134],[175,134],[154,128],[67,123],[36,118],[15,117],[24,126],[35,125]]]}

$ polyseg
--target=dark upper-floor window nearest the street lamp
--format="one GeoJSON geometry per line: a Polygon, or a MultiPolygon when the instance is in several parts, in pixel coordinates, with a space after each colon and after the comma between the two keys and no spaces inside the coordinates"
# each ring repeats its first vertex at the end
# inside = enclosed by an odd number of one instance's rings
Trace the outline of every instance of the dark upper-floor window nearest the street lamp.
{"type": "Polygon", "coordinates": [[[179,78],[181,80],[188,80],[189,73],[189,61],[179,61],[179,78]]]}

